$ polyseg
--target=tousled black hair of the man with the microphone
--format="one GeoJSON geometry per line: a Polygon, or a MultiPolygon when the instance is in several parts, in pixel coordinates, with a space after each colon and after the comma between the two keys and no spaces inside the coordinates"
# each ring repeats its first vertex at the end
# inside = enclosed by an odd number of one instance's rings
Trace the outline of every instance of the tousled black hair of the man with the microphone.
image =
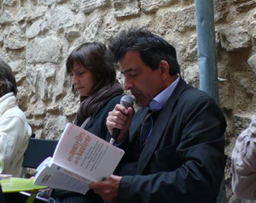
{"type": "Polygon", "coordinates": [[[141,54],[143,62],[152,70],[158,68],[161,60],[166,60],[171,76],[180,73],[175,48],[161,37],[143,29],[131,28],[130,31],[121,31],[110,43],[109,50],[115,62],[122,59],[127,52],[137,51],[141,54]]]}

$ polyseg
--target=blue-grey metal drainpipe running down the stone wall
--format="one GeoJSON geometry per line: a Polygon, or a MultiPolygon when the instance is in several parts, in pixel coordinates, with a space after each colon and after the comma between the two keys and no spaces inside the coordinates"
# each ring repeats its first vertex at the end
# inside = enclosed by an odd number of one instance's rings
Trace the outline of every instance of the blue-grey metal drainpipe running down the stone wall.
{"type": "MultiPolygon", "coordinates": [[[[210,94],[218,103],[218,70],[215,48],[213,0],[195,0],[195,20],[200,89],[210,94]]],[[[216,203],[226,202],[223,178],[216,203]]]]}

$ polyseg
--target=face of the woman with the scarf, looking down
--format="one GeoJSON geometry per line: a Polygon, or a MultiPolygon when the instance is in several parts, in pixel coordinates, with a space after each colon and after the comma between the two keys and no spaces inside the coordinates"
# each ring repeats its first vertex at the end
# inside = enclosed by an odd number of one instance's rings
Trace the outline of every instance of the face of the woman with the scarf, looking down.
{"type": "Polygon", "coordinates": [[[71,76],[72,84],[79,91],[80,96],[89,96],[90,90],[94,85],[90,70],[86,70],[82,65],[74,63],[71,76]]]}

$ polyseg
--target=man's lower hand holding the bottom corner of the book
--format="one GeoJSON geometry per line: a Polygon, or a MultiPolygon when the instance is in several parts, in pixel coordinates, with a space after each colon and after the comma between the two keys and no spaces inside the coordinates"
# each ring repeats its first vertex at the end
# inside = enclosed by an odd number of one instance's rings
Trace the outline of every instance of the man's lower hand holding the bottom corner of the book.
{"type": "Polygon", "coordinates": [[[117,201],[119,192],[119,183],[122,177],[111,175],[108,180],[97,183],[90,183],[89,188],[106,201],[117,201]]]}

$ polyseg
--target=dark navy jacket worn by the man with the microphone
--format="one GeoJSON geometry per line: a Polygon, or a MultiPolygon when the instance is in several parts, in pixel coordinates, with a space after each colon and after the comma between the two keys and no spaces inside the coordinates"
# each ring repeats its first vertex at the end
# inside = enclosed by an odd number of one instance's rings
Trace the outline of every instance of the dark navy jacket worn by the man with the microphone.
{"type": "MultiPolygon", "coordinates": [[[[136,162],[131,151],[147,110],[137,111],[123,144],[125,170],[136,162]]],[[[225,128],[215,100],[180,79],[143,147],[137,175],[121,179],[119,203],[215,202],[224,176],[225,128]]]]}

